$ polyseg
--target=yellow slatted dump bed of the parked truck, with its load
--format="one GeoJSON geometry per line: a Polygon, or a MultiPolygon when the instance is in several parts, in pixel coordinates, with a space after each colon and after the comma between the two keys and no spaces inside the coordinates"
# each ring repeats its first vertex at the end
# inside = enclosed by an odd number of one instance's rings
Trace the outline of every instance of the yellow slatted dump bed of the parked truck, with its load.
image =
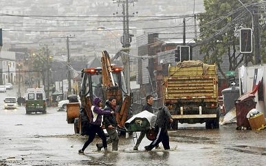
{"type": "Polygon", "coordinates": [[[216,66],[202,62],[199,64],[200,61],[194,60],[184,62],[189,62],[191,66],[187,64],[169,66],[168,77],[165,78],[165,99],[187,99],[188,102],[204,99],[206,102],[216,102],[218,98],[216,66]]]}

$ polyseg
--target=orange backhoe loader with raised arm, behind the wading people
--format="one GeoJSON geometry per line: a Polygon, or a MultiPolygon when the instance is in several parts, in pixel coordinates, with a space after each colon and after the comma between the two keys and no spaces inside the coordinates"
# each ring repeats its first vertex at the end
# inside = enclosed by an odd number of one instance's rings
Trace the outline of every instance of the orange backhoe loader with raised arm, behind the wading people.
{"type": "Polygon", "coordinates": [[[92,113],[91,106],[95,97],[100,97],[103,101],[109,97],[115,97],[117,101],[115,119],[119,126],[124,126],[126,119],[129,118],[132,94],[126,91],[123,67],[111,64],[107,51],[102,51],[101,64],[101,67],[87,68],[81,71],[81,106],[79,115],[74,121],[75,133],[87,134],[87,126],[92,113]]]}

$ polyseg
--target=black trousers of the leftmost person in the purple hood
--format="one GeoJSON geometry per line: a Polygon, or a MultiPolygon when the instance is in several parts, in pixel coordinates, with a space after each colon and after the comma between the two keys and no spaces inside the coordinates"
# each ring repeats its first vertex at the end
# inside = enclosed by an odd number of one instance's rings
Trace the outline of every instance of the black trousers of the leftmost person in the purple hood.
{"type": "Polygon", "coordinates": [[[104,148],[107,147],[107,137],[105,136],[104,131],[102,130],[102,128],[100,126],[89,124],[89,131],[88,132],[89,132],[89,138],[85,142],[85,144],[83,145],[82,151],[84,151],[86,149],[86,147],[93,141],[93,139],[96,136],[96,133],[98,134],[100,139],[102,139],[102,146],[104,148]]]}

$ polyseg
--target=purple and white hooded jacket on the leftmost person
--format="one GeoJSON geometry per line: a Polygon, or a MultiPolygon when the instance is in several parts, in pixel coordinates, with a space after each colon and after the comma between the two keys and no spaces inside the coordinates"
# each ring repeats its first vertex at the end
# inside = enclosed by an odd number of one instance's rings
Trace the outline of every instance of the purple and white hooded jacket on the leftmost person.
{"type": "Polygon", "coordinates": [[[111,115],[110,110],[102,110],[98,105],[102,102],[102,99],[96,97],[93,99],[93,106],[91,106],[91,121],[89,123],[97,126],[102,125],[102,115],[111,115]]]}

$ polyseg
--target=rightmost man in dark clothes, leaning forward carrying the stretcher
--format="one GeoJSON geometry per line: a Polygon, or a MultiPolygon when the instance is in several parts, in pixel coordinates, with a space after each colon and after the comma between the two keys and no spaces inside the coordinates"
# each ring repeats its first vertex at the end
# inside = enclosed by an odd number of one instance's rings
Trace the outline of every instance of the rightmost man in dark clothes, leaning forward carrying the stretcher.
{"type": "Polygon", "coordinates": [[[150,145],[145,146],[145,150],[151,151],[153,147],[158,145],[160,142],[164,145],[164,150],[170,150],[169,136],[167,128],[169,123],[173,123],[173,118],[170,115],[169,110],[173,109],[172,102],[166,102],[165,106],[159,109],[157,114],[157,119],[155,121],[155,132],[157,132],[157,137],[150,145]]]}

